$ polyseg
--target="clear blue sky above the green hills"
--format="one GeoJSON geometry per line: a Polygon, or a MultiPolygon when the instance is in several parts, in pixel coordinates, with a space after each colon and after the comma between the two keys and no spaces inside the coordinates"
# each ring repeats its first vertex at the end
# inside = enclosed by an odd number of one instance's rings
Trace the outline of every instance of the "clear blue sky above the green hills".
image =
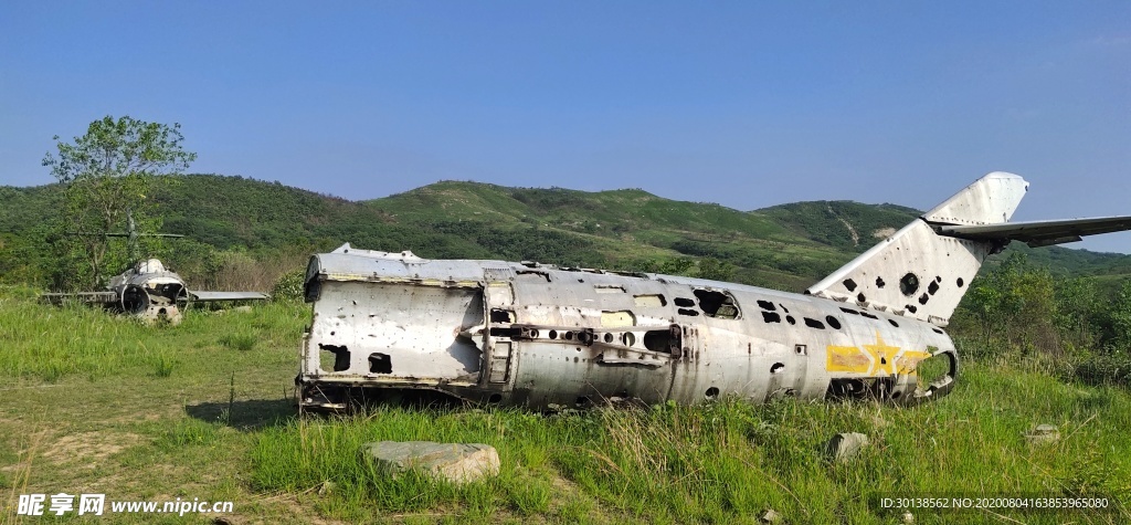
{"type": "Polygon", "coordinates": [[[2,2],[0,184],[106,114],[180,122],[192,172],[351,199],[929,208],[1003,170],[1015,220],[1129,215],[1131,2],[2,2]]]}

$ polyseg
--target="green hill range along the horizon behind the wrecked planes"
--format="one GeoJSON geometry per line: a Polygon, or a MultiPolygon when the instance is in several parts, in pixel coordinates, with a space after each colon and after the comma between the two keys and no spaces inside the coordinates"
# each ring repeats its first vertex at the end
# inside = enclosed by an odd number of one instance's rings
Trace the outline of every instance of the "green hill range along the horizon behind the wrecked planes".
{"type": "MultiPolygon", "coordinates": [[[[28,281],[50,265],[41,239],[60,187],[0,187],[0,276],[28,281]]],[[[502,258],[619,269],[681,270],[714,258],[725,276],[797,291],[835,270],[920,212],[891,205],[811,201],[742,212],[665,199],[640,189],[585,192],[443,181],[389,197],[352,201],[278,182],[185,175],[158,180],[153,193],[170,258],[190,277],[209,278],[217,251],[260,259],[331,249],[412,250],[429,258],[502,258]],[[684,260],[685,259],[685,260],[684,260]],[[211,259],[209,259],[211,260],[211,259]]],[[[1131,275],[1131,257],[1086,250],[1030,250],[1063,275],[1131,275]]],[[[295,262],[300,264],[300,262],[295,262]]],[[[32,279],[37,281],[37,279],[32,279]]]]}

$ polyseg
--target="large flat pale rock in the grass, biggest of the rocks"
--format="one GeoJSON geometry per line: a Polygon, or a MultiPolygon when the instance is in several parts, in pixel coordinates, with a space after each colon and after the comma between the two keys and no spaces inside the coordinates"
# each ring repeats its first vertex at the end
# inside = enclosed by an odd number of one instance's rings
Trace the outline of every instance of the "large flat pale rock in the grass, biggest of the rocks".
{"type": "Polygon", "coordinates": [[[362,457],[389,475],[408,470],[428,472],[454,483],[499,473],[499,453],[483,444],[378,441],[361,447],[362,457]]]}

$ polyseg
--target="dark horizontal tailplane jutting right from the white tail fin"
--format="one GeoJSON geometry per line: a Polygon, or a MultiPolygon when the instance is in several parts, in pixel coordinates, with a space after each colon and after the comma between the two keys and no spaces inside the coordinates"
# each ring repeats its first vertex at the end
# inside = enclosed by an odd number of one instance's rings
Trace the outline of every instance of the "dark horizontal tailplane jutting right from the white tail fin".
{"type": "Polygon", "coordinates": [[[976,241],[1022,241],[1030,247],[1079,241],[1083,235],[1131,230],[1131,216],[1031,221],[1020,223],[934,225],[940,235],[976,241]]]}

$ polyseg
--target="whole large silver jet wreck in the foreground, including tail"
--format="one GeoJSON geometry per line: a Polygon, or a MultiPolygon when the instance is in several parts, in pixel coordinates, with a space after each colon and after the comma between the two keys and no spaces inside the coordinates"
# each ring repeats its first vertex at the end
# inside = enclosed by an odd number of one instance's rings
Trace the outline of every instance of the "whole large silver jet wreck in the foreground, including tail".
{"type": "Polygon", "coordinates": [[[339,410],[373,389],[532,408],[936,398],[959,372],[943,328],[988,255],[1131,229],[1131,217],[1010,223],[1027,189],[991,173],[804,294],[344,244],[307,270],[300,404],[339,410]]]}

